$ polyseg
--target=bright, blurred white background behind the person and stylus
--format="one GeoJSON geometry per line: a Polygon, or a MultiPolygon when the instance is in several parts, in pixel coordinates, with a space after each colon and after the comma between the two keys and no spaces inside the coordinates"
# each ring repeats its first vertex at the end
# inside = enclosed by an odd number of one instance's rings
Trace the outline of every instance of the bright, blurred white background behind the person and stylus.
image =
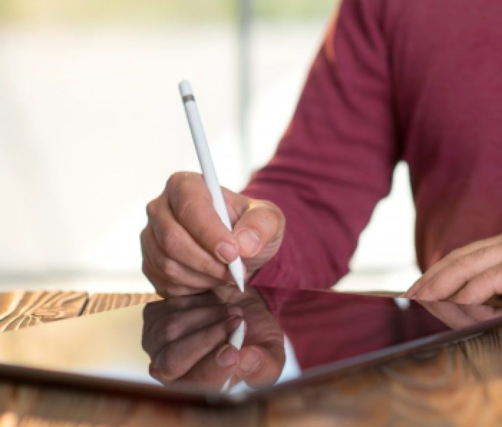
{"type": "MultiPolygon", "coordinates": [[[[337,0],[2,0],[0,290],[150,292],[145,206],[198,171],[192,81],[221,184],[273,154],[337,0]]],[[[399,165],[340,290],[418,276],[399,165]]]]}

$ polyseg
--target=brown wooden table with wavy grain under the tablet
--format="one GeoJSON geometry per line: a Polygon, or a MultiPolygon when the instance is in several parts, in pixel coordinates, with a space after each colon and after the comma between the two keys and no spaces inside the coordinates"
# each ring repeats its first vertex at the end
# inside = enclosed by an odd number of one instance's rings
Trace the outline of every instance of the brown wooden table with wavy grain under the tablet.
{"type": "MultiPolygon", "coordinates": [[[[153,294],[0,294],[0,330],[145,303],[153,294]]],[[[208,408],[0,379],[0,426],[502,425],[502,328],[318,381],[261,403],[208,408]]]]}

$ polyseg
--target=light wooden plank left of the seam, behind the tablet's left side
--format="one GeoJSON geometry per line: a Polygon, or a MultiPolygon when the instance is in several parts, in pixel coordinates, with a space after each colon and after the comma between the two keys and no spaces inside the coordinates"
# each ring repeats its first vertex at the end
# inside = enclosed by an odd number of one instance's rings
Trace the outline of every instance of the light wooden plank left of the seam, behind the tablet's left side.
{"type": "Polygon", "coordinates": [[[79,316],[85,292],[24,292],[0,294],[0,331],[79,316]]]}

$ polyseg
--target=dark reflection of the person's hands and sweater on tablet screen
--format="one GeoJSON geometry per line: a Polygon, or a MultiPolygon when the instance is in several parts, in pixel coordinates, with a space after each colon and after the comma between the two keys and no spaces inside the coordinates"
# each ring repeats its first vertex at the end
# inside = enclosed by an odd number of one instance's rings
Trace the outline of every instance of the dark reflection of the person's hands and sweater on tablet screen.
{"type": "Polygon", "coordinates": [[[142,345],[151,359],[151,376],[164,385],[195,382],[220,390],[230,378],[232,386],[256,388],[281,377],[286,337],[294,363],[305,371],[502,316],[488,306],[402,302],[266,287],[240,293],[223,287],[147,304],[142,345]],[[238,350],[228,340],[242,320],[246,330],[238,350]]]}

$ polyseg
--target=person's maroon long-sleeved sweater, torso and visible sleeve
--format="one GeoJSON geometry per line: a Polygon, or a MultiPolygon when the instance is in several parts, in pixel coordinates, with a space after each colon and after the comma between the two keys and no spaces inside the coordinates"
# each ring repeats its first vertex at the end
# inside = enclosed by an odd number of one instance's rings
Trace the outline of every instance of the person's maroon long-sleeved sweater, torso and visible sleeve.
{"type": "Polygon", "coordinates": [[[342,2],[277,153],[244,190],[287,221],[253,282],[336,282],[399,160],[422,270],[502,233],[500,0],[342,2]]]}

